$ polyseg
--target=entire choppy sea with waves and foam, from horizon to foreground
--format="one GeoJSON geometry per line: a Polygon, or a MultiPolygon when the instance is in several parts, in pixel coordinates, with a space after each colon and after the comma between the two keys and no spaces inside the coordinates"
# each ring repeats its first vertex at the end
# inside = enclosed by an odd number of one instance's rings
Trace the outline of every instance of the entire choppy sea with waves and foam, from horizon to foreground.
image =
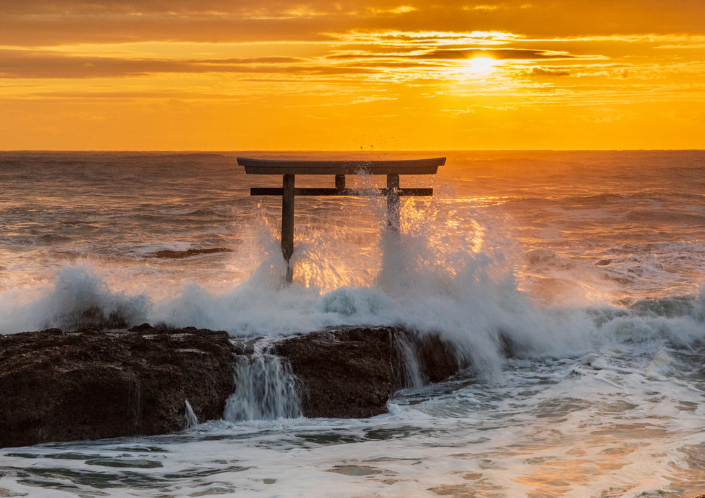
{"type": "Polygon", "coordinates": [[[705,151],[0,152],[1,333],[73,330],[88,309],[263,347],[400,325],[472,361],[375,418],[298,417],[283,389],[286,410],[235,393],[174,435],[0,449],[0,496],[694,498],[704,280],[705,151]],[[369,194],[384,178],[298,198],[283,287],[281,199],[249,195],[281,178],[238,155],[448,161],[401,179],[434,197],[403,198],[400,240],[369,194]]]}

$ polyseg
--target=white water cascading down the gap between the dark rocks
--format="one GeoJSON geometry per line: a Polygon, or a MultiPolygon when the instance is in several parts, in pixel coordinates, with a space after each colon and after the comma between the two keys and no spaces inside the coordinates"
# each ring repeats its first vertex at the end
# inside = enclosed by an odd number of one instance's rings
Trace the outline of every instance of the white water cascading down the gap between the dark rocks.
{"type": "Polygon", "coordinates": [[[275,420],[301,414],[295,375],[288,362],[255,348],[252,356],[238,355],[235,361],[235,392],[226,401],[226,421],[275,420]]]}

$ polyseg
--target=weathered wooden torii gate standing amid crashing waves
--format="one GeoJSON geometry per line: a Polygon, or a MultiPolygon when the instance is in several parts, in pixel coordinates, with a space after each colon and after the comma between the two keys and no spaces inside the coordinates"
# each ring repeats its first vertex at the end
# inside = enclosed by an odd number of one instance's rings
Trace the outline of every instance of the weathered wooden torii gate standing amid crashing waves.
{"type": "Polygon", "coordinates": [[[294,197],[297,195],[315,196],[362,196],[369,190],[360,192],[345,187],[345,175],[387,175],[387,187],[377,189],[377,194],[387,197],[387,225],[399,231],[399,197],[431,196],[431,188],[400,188],[399,175],[435,175],[439,166],[446,163],[445,157],[431,159],[407,159],[396,161],[290,161],[238,157],[238,164],[245,166],[248,175],[282,175],[281,188],[250,189],[250,195],[281,196],[281,253],[286,259],[286,282],[293,280],[293,269],[289,263],[294,251],[294,197]],[[296,175],[335,175],[336,186],[296,188],[296,175]]]}

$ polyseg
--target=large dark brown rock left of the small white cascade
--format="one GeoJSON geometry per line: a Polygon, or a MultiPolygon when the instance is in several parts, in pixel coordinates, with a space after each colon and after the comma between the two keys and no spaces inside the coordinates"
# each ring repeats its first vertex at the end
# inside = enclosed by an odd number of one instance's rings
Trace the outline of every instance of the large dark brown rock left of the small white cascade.
{"type": "Polygon", "coordinates": [[[0,335],[0,447],[154,435],[221,418],[232,394],[226,332],[59,329],[0,335]]]}

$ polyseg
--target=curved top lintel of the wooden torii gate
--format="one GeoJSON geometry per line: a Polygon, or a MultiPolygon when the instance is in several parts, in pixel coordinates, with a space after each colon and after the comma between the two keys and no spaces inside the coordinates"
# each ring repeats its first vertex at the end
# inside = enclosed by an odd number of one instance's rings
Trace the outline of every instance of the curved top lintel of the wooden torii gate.
{"type": "Polygon", "coordinates": [[[435,175],[446,158],[391,161],[301,161],[238,157],[248,175],[435,175]]]}

